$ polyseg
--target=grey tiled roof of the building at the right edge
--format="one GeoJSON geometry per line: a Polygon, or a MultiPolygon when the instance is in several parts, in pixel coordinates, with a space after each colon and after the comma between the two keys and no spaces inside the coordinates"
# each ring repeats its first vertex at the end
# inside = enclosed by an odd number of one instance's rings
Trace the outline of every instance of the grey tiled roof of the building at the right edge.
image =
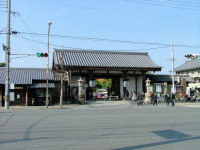
{"type": "Polygon", "coordinates": [[[190,61],[186,61],[184,64],[175,68],[174,71],[189,71],[194,69],[200,69],[200,59],[192,59],[190,61]]]}

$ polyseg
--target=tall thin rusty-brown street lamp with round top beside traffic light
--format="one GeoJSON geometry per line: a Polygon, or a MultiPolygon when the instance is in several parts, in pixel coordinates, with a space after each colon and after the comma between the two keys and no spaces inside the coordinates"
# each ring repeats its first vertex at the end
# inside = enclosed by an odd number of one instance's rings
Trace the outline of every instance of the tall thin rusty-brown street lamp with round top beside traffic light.
{"type": "Polygon", "coordinates": [[[49,103],[49,33],[50,33],[50,27],[52,22],[48,21],[49,29],[48,29],[48,44],[47,44],[47,87],[46,87],[46,107],[48,108],[49,103]]]}

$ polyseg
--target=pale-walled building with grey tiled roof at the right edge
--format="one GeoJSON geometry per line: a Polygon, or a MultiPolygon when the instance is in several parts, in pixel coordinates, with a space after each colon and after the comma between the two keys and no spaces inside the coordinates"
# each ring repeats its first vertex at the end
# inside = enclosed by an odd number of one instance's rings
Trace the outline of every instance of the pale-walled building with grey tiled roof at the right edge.
{"type": "Polygon", "coordinates": [[[191,77],[194,83],[188,84],[188,95],[196,92],[198,97],[200,97],[200,59],[186,61],[184,64],[175,68],[174,71],[180,78],[185,76],[191,77]]]}

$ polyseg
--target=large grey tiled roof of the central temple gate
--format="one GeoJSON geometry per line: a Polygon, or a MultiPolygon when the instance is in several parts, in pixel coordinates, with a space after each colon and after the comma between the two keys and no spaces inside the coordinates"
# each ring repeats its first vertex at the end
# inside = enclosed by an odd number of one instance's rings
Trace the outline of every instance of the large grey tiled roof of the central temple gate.
{"type": "MultiPolygon", "coordinates": [[[[148,53],[64,50],[64,66],[79,68],[129,68],[160,71],[148,53]]],[[[55,50],[53,63],[61,64],[62,50],[55,50]]]]}

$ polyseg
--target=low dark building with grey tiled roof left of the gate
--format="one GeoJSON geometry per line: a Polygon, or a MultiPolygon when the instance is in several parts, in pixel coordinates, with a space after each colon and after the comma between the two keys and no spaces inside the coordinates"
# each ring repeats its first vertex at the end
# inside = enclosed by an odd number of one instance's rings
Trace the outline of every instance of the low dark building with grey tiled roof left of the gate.
{"type": "MultiPolygon", "coordinates": [[[[10,68],[10,105],[31,105],[32,98],[40,104],[46,98],[46,69],[45,68],[10,68]]],[[[5,68],[0,68],[0,103],[4,105],[5,68]]],[[[53,72],[49,71],[49,101],[55,94],[53,72]]],[[[55,100],[55,99],[54,99],[55,100]]]]}

